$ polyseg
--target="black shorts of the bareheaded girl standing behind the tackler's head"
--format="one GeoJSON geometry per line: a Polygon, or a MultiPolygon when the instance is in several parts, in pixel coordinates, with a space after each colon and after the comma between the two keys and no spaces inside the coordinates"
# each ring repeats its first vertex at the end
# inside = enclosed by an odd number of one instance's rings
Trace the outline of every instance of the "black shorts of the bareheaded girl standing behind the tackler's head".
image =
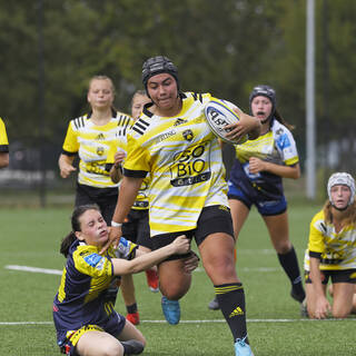
{"type": "Polygon", "coordinates": [[[96,188],[77,184],[76,207],[87,204],[97,204],[108,226],[118,201],[118,188],[96,188]]]}

